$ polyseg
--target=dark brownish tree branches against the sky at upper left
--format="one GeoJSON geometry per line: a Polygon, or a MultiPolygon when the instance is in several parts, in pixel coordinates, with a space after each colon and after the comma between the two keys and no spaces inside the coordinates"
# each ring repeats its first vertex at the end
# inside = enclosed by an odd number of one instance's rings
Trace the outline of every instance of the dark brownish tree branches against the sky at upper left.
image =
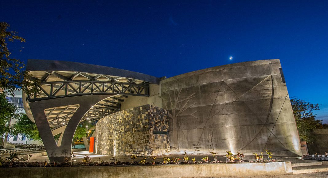
{"type": "Polygon", "coordinates": [[[25,39],[18,36],[18,32],[8,30],[9,27],[8,23],[0,22],[0,89],[6,89],[3,92],[11,95],[14,95],[17,88],[21,88],[28,94],[38,93],[40,89],[34,86],[39,84],[39,81],[32,79],[32,75],[24,70],[25,65],[22,61],[10,57],[11,52],[7,47],[7,41],[23,43],[25,39]]]}

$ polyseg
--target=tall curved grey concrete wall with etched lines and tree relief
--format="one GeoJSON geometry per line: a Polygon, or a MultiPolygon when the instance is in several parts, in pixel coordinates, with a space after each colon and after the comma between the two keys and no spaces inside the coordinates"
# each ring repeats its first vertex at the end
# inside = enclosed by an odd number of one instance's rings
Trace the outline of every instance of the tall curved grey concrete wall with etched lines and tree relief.
{"type": "Polygon", "coordinates": [[[173,153],[301,155],[279,59],[198,70],[160,81],[173,153]]]}

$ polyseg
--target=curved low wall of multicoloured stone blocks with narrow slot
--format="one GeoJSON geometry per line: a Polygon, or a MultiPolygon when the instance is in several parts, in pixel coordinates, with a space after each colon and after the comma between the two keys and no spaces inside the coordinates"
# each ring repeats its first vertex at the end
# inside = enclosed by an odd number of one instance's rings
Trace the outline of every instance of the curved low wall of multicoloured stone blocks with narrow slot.
{"type": "Polygon", "coordinates": [[[152,105],[106,116],[97,122],[96,152],[116,156],[169,154],[168,119],[165,109],[152,105]]]}

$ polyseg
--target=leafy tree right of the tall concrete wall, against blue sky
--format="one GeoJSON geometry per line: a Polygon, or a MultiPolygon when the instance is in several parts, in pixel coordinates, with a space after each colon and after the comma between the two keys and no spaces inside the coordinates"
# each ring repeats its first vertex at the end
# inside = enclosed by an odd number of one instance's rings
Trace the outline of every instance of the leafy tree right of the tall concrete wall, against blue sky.
{"type": "Polygon", "coordinates": [[[291,104],[300,140],[313,143],[315,137],[310,132],[322,128],[322,120],[317,120],[316,115],[313,114],[313,111],[319,110],[319,104],[312,104],[298,98],[291,99],[291,104]]]}

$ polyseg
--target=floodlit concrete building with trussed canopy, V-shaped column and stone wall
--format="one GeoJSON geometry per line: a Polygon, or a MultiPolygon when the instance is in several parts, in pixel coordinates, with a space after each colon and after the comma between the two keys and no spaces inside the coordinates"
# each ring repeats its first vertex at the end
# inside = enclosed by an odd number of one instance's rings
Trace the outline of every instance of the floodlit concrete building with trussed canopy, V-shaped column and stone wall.
{"type": "Polygon", "coordinates": [[[24,108],[51,161],[62,161],[77,125],[92,120],[100,154],[302,154],[279,59],[171,78],[49,60],[29,60],[27,70],[41,93],[24,95],[24,108]]]}

